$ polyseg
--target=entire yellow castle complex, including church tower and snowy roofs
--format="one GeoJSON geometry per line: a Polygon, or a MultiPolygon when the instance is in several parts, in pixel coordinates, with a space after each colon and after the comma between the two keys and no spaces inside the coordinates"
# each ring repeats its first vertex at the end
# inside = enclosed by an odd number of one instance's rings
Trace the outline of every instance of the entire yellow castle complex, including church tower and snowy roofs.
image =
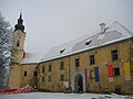
{"type": "Polygon", "coordinates": [[[24,53],[22,14],[13,32],[9,88],[42,91],[133,94],[133,33],[119,22],[52,47],[24,53]]]}

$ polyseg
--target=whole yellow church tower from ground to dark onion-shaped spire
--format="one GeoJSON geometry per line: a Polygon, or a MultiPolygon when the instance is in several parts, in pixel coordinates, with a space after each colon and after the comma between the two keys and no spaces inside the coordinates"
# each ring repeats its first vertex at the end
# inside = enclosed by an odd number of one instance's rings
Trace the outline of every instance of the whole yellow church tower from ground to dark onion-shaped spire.
{"type": "Polygon", "coordinates": [[[14,25],[13,42],[12,42],[12,51],[11,51],[11,67],[10,67],[10,76],[9,76],[9,88],[20,88],[21,80],[21,66],[20,62],[24,57],[24,40],[25,32],[22,20],[22,13],[18,19],[18,23],[14,25]]]}

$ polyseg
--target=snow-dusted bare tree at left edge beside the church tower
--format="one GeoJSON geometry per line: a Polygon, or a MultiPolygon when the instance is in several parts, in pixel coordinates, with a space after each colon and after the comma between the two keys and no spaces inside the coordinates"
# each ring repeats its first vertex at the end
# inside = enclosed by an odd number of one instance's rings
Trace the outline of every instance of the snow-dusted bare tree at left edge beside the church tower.
{"type": "Polygon", "coordinates": [[[0,89],[8,88],[12,48],[12,29],[0,13],[0,89]]]}

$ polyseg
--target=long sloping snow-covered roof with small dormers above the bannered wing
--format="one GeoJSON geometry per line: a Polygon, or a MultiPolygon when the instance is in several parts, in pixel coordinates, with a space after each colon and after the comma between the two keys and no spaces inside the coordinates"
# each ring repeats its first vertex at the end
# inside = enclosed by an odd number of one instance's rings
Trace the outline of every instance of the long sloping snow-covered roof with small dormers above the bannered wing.
{"type": "Polygon", "coordinates": [[[104,46],[133,36],[125,26],[114,21],[105,29],[104,33],[96,31],[92,36],[85,35],[78,40],[52,47],[42,58],[42,62],[51,61],[91,48],[104,46]]]}

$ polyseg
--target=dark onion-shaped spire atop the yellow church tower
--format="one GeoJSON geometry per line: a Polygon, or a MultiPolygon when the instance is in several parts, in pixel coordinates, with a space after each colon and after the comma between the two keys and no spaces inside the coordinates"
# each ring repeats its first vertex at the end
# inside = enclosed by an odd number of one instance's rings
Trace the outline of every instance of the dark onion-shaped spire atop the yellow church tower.
{"type": "Polygon", "coordinates": [[[21,30],[22,32],[24,32],[22,12],[20,12],[20,18],[18,19],[18,24],[14,25],[14,31],[17,31],[17,30],[21,30]]]}

